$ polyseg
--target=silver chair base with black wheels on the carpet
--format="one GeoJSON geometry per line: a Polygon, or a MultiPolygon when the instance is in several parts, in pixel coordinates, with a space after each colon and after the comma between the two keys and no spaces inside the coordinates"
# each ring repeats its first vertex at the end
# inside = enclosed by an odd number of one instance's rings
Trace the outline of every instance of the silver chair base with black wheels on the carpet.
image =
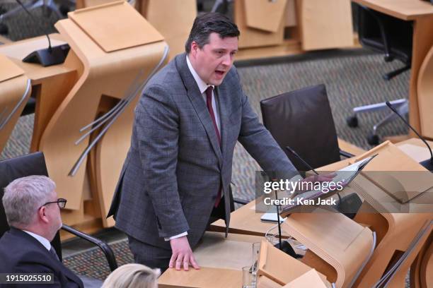
{"type": "MultiPolygon", "coordinates": [[[[391,104],[393,104],[393,106],[396,107],[398,113],[400,113],[401,115],[408,114],[408,112],[409,112],[408,100],[398,99],[398,100],[391,101],[391,104]]],[[[347,119],[346,119],[347,126],[354,128],[354,127],[357,127],[359,125],[359,121],[358,121],[358,117],[357,117],[357,115],[359,113],[373,112],[373,111],[383,110],[383,109],[388,109],[385,102],[377,103],[377,104],[369,104],[369,105],[360,106],[360,107],[354,107],[353,115],[347,117],[347,119]]],[[[388,116],[381,119],[381,121],[379,121],[379,123],[374,125],[372,133],[369,136],[367,136],[367,138],[366,138],[369,145],[378,145],[380,138],[377,135],[377,130],[379,129],[379,127],[381,127],[385,124],[388,124],[389,122],[393,121],[397,117],[398,116],[396,114],[391,112],[390,114],[388,114],[388,116]]]]}

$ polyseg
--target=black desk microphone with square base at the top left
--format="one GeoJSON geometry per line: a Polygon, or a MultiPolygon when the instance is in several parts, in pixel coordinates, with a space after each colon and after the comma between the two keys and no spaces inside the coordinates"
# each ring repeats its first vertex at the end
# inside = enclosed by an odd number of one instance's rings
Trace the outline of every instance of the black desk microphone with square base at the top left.
{"type": "MultiPolygon", "coordinates": [[[[32,18],[33,22],[41,28],[41,26],[39,25],[39,23],[37,23],[37,20],[32,15],[32,13],[30,13],[27,10],[27,8],[25,8],[23,2],[21,2],[21,0],[16,0],[16,2],[20,4],[21,7],[23,7],[25,13],[28,13],[30,18],[32,18]]],[[[62,45],[52,47],[50,36],[47,33],[45,33],[45,36],[47,36],[48,48],[39,49],[28,54],[28,56],[24,57],[23,62],[41,64],[44,67],[52,66],[56,64],[62,64],[64,62],[69,52],[69,48],[70,48],[69,45],[62,44],[62,45]]]]}

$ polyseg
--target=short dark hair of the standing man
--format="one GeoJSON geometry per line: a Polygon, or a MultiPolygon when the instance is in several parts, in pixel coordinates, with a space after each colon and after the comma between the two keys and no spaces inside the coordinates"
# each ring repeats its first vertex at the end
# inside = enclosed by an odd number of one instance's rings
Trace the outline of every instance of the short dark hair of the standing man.
{"type": "Polygon", "coordinates": [[[190,53],[191,43],[195,41],[200,47],[209,43],[209,35],[215,32],[224,39],[225,37],[239,37],[238,26],[233,23],[228,17],[220,13],[205,13],[197,16],[192,24],[190,36],[185,43],[185,51],[190,53]]]}

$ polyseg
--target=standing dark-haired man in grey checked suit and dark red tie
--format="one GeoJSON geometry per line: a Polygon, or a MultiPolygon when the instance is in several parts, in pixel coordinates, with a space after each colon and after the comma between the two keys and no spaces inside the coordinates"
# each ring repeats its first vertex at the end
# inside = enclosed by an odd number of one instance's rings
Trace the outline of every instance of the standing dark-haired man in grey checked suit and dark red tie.
{"type": "MultiPolygon", "coordinates": [[[[212,211],[229,227],[236,141],[265,171],[297,174],[243,93],[236,68],[239,31],[218,13],[195,19],[185,44],[146,85],[109,216],[129,236],[137,263],[199,268],[191,247],[212,211]]],[[[228,229],[228,228],[227,228],[228,229]]]]}

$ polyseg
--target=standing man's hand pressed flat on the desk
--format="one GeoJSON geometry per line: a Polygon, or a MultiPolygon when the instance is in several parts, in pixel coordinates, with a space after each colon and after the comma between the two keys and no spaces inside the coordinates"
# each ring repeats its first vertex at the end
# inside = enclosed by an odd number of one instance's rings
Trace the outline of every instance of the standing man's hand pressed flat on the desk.
{"type": "Polygon", "coordinates": [[[190,243],[188,242],[187,236],[171,239],[171,259],[169,268],[175,268],[175,270],[189,270],[191,265],[195,269],[200,269],[197,262],[195,262],[194,254],[192,253],[190,243]]]}

